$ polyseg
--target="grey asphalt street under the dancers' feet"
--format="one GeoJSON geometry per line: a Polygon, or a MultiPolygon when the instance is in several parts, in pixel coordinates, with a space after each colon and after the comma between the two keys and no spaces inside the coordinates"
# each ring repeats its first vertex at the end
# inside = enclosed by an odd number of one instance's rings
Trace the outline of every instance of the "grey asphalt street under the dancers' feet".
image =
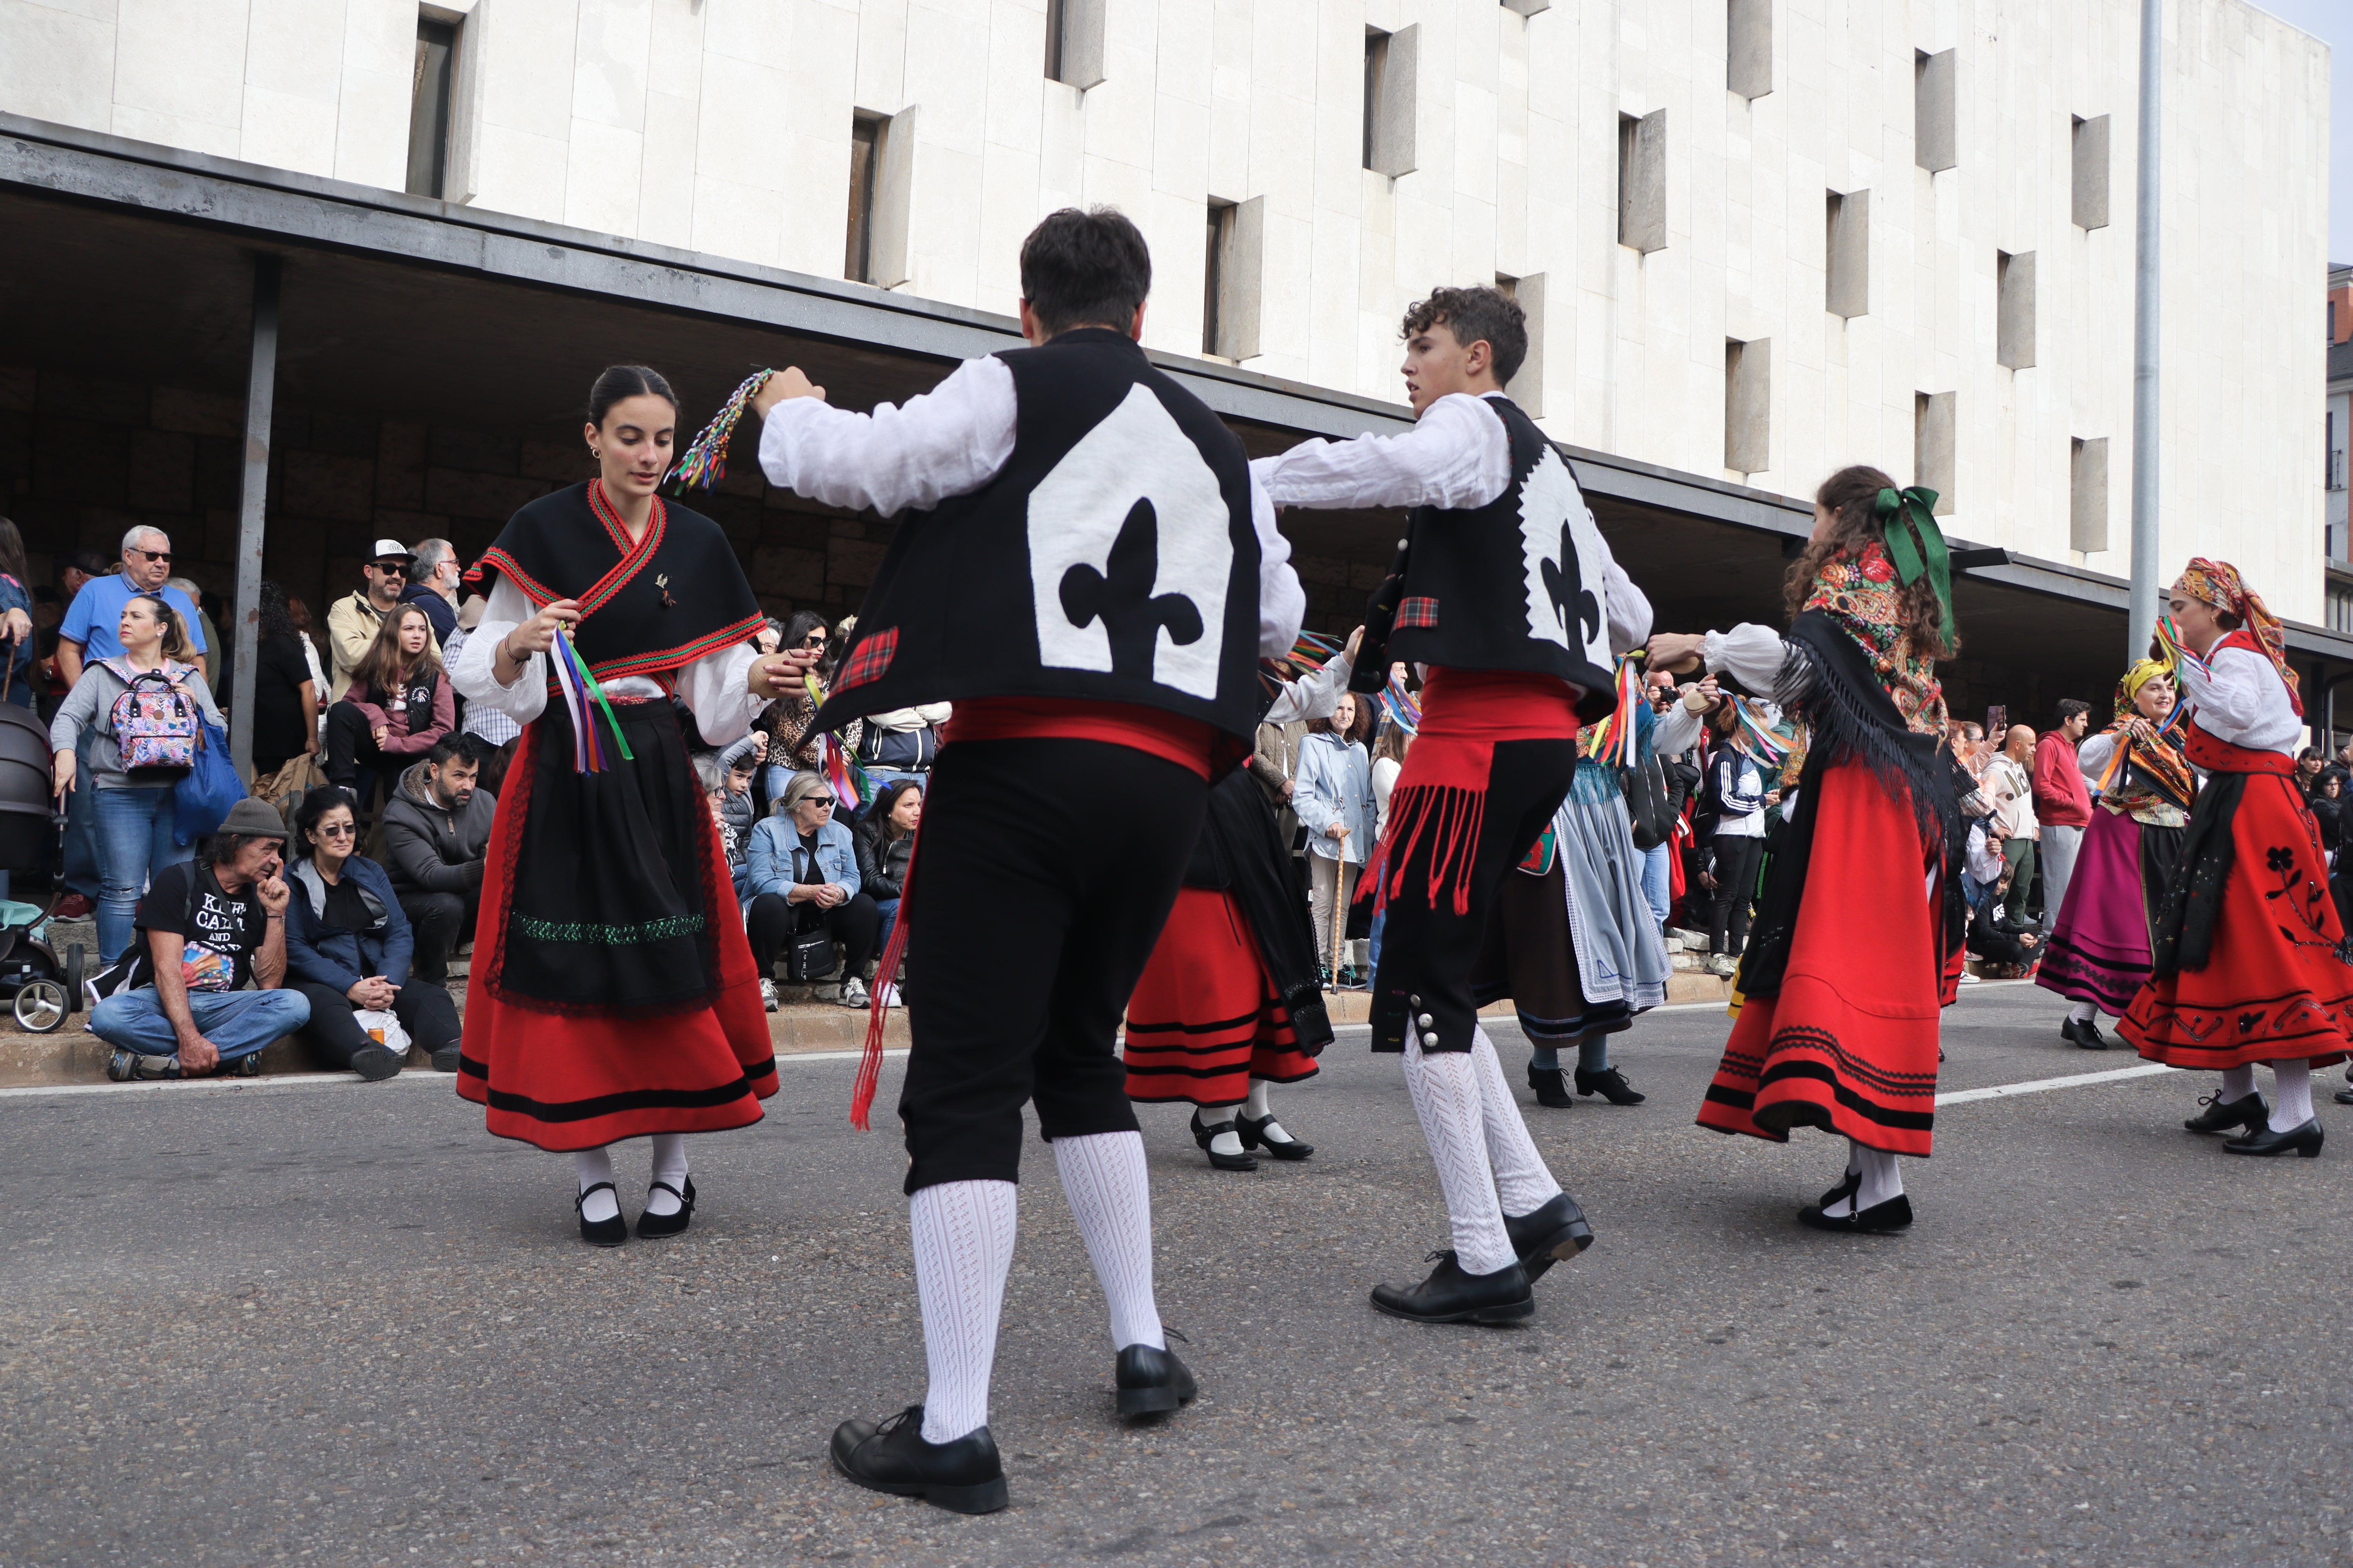
{"type": "MultiPolygon", "coordinates": [[[[1944,1088],[2134,1065],[2059,1013],[1969,987],[1944,1088]]],[[[1647,1105],[1527,1105],[1598,1241],[1511,1328],[1365,1300],[1445,1215],[1362,1030],[1275,1100],[1306,1164],[1209,1171],[1144,1107],[1202,1385],[1158,1427],[1111,1413],[1031,1143],[984,1519],[826,1467],[840,1418],[922,1396],[904,1154],[849,1131],[847,1060],[786,1060],[762,1124],[692,1145],[694,1229],[609,1253],[569,1161],[447,1079],[0,1095],[0,1563],[2353,1561],[2334,1070],[2315,1161],[2181,1131],[2188,1074],[1951,1105],[1913,1234],[1854,1239],[1795,1225],[1842,1145],[1692,1124],[1725,1032],[1652,1013],[1617,1039],[1647,1105]]],[[[633,1215],[645,1145],[616,1166],[633,1215]]]]}

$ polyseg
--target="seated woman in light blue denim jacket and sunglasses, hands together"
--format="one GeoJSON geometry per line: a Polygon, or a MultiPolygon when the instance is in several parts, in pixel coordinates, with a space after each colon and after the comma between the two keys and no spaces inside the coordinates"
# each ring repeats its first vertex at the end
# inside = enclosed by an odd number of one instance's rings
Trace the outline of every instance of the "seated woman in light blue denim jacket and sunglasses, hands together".
{"type": "Polygon", "coordinates": [[[824,926],[842,945],[842,1006],[866,1006],[859,973],[875,954],[882,914],[859,886],[859,851],[833,820],[833,790],[816,773],[793,773],[751,832],[751,905],[744,912],[760,999],[776,1006],[776,954],[824,926]]]}

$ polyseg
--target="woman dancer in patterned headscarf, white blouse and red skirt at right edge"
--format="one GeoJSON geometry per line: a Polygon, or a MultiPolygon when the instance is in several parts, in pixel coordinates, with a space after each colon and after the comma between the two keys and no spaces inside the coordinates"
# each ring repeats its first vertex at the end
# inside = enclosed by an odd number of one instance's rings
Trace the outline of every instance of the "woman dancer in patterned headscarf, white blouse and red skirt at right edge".
{"type": "Polygon", "coordinates": [[[2151,931],[2148,985],[2115,1025],[2167,1067],[2221,1072],[2184,1126],[2245,1128],[2233,1154],[2320,1154],[2313,1067],[2346,1060],[2353,964],[2320,830],[2297,790],[2304,703],[2287,637],[2228,562],[2191,559],[2169,595],[2188,759],[2207,771],[2151,931]],[[2254,1091],[2271,1063],[2278,1103],[2254,1091]]]}

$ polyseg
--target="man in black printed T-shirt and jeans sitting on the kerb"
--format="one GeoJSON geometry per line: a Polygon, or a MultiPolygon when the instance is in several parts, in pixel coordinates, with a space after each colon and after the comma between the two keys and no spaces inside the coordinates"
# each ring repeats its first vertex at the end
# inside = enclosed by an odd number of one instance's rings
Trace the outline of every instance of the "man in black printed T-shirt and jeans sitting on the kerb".
{"type": "Polygon", "coordinates": [[[271,806],[240,799],[195,860],[155,872],[139,900],[146,940],[92,983],[89,1032],[115,1048],[106,1077],[254,1077],[266,1044],[311,1023],[311,1001],[282,990],[285,842],[271,806]]]}

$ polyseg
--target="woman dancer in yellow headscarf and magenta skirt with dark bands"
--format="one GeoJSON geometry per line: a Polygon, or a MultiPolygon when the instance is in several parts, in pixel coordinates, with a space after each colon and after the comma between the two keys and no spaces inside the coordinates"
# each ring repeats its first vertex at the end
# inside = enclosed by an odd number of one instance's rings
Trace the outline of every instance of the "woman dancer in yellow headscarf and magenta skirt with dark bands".
{"type": "Polygon", "coordinates": [[[2181,865],[2198,797],[2184,743],[2172,665],[2144,658],[2115,682],[2115,724],[2078,755],[2099,795],[2035,973],[2035,985],[2075,1004],[2059,1025],[2071,1046],[2106,1051],[2099,1013],[2122,1018],[2148,983],[2148,924],[2181,865]]]}

